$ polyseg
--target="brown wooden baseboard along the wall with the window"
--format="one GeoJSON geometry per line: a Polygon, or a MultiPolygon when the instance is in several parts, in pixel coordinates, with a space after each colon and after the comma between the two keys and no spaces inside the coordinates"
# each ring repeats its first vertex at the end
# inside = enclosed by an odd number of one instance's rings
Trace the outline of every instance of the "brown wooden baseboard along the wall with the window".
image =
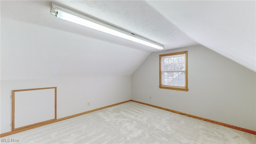
{"type": "Polygon", "coordinates": [[[248,132],[250,134],[255,134],[256,135],[256,131],[254,130],[248,130],[246,128],[241,128],[241,127],[238,127],[238,126],[233,126],[233,125],[230,125],[230,124],[226,124],[226,123],[223,123],[223,122],[218,122],[218,121],[215,121],[215,120],[209,120],[207,118],[201,118],[199,116],[193,116],[191,114],[186,114],[186,113],[183,113],[183,112],[178,112],[176,110],[170,110],[168,108],[163,108],[163,107],[160,107],[160,106],[155,106],[155,105],[152,105],[152,104],[147,104],[147,103],[144,103],[144,102],[139,102],[139,101],[136,101],[136,100],[131,100],[132,102],[136,102],[136,103],[139,103],[139,104],[144,104],[144,105],[147,105],[147,106],[152,106],[154,108],[159,108],[159,109],[162,109],[162,110],[167,110],[169,112],[174,112],[176,114],[182,114],[184,116],[188,116],[188,117],[191,117],[191,118],[196,118],[198,120],[204,120],[206,122],[211,122],[211,123],[214,123],[214,124],[218,124],[218,125],[221,125],[221,126],[226,126],[228,128],[233,128],[235,130],[240,130],[240,131],[243,131],[243,132],[248,132]]]}

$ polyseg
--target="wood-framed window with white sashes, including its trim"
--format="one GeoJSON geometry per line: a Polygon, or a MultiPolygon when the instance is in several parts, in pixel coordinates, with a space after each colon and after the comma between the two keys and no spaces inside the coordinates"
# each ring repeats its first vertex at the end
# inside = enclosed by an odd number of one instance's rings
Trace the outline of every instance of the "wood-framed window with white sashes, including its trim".
{"type": "Polygon", "coordinates": [[[188,51],[159,55],[159,88],[188,91],[188,51]]]}

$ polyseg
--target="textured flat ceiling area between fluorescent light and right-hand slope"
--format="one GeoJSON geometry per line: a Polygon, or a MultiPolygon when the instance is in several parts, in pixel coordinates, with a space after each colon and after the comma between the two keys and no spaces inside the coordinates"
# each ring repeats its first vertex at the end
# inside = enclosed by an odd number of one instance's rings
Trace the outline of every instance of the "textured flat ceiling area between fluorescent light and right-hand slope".
{"type": "Polygon", "coordinates": [[[198,44],[145,1],[56,2],[164,44],[166,50],[198,44]]]}

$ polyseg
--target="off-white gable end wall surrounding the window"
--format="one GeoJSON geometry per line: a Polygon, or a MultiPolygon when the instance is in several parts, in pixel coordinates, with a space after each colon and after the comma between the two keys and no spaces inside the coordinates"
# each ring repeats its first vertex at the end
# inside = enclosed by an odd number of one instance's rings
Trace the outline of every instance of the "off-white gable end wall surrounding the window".
{"type": "Polygon", "coordinates": [[[132,74],[132,100],[256,130],[256,73],[204,46],[150,54],[132,74]],[[186,50],[188,92],[160,89],[159,54],[186,50]]]}

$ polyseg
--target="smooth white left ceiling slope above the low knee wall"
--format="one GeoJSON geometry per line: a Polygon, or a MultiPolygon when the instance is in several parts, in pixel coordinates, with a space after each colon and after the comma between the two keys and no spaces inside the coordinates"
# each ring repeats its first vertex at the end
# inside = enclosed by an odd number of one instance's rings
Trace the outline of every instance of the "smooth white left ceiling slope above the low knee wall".
{"type": "Polygon", "coordinates": [[[1,80],[128,76],[149,52],[1,19],[1,80]]]}

